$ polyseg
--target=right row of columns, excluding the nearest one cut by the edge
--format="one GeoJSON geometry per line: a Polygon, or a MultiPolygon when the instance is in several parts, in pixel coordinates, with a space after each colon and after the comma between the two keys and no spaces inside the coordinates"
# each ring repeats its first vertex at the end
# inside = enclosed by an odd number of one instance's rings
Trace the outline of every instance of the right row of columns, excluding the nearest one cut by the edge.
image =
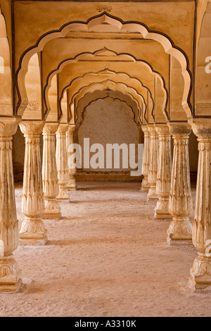
{"type": "Polygon", "coordinates": [[[172,218],[167,230],[169,244],[190,242],[192,225],[191,180],[188,137],[191,126],[145,125],[146,143],[143,154],[143,191],[148,189],[148,201],[157,201],[155,218],[172,218]],[[171,135],[174,139],[172,162],[171,135]]]}

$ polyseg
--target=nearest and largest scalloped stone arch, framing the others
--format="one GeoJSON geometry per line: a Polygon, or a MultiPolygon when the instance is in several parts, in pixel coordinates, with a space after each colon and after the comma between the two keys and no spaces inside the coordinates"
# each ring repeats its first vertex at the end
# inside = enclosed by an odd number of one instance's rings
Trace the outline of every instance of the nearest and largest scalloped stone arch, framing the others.
{"type": "Polygon", "coordinates": [[[190,95],[191,95],[191,72],[188,68],[188,58],[182,49],[174,45],[172,39],[158,31],[151,31],[149,28],[140,22],[124,22],[120,18],[116,18],[106,12],[103,12],[97,16],[89,18],[87,22],[69,22],[60,27],[58,30],[54,30],[51,32],[47,32],[45,35],[42,35],[37,43],[31,46],[29,49],[25,50],[25,52],[20,57],[19,67],[16,71],[15,80],[16,80],[16,88],[18,92],[18,105],[17,112],[19,115],[23,114],[25,107],[27,106],[27,98],[25,97],[25,86],[22,84],[24,82],[24,77],[27,72],[27,63],[30,60],[31,56],[41,51],[44,48],[46,42],[49,42],[52,39],[57,37],[65,37],[65,35],[70,32],[70,28],[85,28],[89,30],[97,25],[113,25],[117,27],[117,29],[124,31],[133,31],[139,32],[143,36],[143,39],[152,39],[156,42],[160,43],[167,54],[170,54],[177,58],[179,63],[181,64],[181,73],[184,77],[184,94],[182,98],[182,106],[186,111],[187,117],[191,118],[191,103],[190,103],[190,95]]]}

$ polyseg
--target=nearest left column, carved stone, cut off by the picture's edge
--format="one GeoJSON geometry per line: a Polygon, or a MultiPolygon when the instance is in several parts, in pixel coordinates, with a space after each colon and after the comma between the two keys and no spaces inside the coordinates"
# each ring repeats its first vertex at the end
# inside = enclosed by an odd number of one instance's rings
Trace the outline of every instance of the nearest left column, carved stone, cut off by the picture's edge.
{"type": "Polygon", "coordinates": [[[0,119],[0,292],[16,292],[22,285],[20,270],[13,258],[18,247],[18,220],[13,179],[12,135],[18,118],[0,119]]]}

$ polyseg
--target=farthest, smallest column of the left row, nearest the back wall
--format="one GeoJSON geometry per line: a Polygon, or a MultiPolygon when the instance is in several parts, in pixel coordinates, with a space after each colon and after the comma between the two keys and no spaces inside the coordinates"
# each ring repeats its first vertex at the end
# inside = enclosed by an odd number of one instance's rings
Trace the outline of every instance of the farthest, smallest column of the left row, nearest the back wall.
{"type": "Polygon", "coordinates": [[[69,125],[68,131],[66,132],[66,142],[67,142],[67,151],[68,151],[68,169],[69,169],[69,181],[68,181],[68,188],[72,191],[76,188],[75,182],[75,173],[76,167],[74,167],[74,158],[72,157],[72,152],[69,151],[68,147],[71,144],[74,144],[74,131],[75,125],[69,125]]]}

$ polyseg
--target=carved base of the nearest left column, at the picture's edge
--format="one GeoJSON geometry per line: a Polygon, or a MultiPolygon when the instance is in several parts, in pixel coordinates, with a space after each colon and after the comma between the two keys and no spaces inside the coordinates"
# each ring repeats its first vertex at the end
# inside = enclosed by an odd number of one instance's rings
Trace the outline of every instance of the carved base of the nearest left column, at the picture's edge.
{"type": "Polygon", "coordinates": [[[0,256],[0,292],[18,292],[21,287],[20,270],[13,255],[0,256]]]}

